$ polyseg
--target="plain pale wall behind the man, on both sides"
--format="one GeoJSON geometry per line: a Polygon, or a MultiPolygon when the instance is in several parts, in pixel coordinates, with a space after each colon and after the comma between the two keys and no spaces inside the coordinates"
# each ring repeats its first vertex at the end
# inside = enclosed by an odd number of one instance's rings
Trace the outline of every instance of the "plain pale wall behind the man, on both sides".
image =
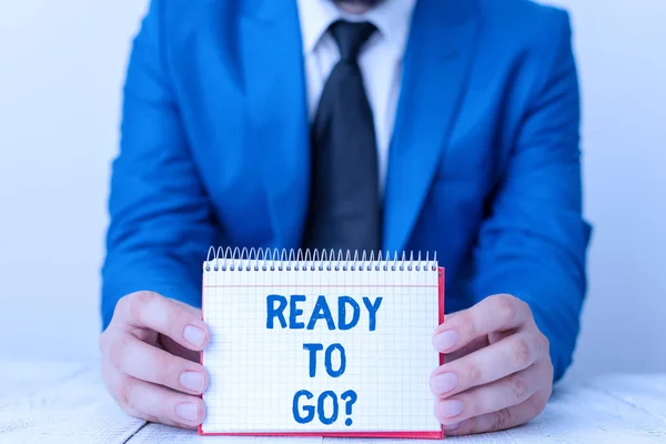
{"type": "MultiPolygon", "coordinates": [[[[559,3],[575,27],[595,225],[569,377],[666,371],[666,2],[559,3]]],[[[144,7],[0,2],[0,355],[97,354],[109,162],[144,7]]]]}

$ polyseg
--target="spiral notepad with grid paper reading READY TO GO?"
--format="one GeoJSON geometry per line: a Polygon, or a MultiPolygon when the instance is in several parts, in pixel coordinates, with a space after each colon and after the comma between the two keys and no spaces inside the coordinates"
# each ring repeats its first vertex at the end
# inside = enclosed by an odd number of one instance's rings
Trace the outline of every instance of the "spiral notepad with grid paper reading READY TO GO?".
{"type": "Polygon", "coordinates": [[[200,434],[443,437],[435,258],[219,249],[202,291],[200,434]]]}

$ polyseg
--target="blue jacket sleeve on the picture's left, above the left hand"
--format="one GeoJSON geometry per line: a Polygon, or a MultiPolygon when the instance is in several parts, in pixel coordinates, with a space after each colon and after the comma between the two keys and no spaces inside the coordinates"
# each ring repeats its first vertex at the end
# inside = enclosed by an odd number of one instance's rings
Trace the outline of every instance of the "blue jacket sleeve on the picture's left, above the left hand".
{"type": "Polygon", "coordinates": [[[171,91],[153,0],[133,40],[112,164],[101,316],[123,295],[155,291],[200,306],[201,266],[215,229],[171,91]]]}

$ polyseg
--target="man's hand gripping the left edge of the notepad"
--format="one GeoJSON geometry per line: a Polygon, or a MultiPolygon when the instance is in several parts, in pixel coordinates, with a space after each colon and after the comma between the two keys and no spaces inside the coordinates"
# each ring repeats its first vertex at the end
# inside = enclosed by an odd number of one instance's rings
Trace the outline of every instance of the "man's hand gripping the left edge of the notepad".
{"type": "Polygon", "coordinates": [[[196,351],[209,336],[196,309],[153,292],[124,296],[100,339],[107,390],[132,416],[195,428],[209,377],[196,351]]]}

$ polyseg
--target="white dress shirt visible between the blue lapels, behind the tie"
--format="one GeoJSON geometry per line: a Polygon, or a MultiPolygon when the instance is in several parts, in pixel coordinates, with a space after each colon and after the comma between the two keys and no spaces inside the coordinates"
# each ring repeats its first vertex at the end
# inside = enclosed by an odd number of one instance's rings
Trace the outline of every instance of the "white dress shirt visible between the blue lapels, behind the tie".
{"type": "Polygon", "coordinates": [[[380,189],[384,190],[389,144],[402,81],[402,59],[416,0],[384,0],[363,14],[341,11],[333,0],[297,0],[303,34],[310,119],[333,67],[340,60],[337,43],[327,31],[337,19],[369,21],[377,28],[359,56],[365,93],[374,115],[380,189]]]}

